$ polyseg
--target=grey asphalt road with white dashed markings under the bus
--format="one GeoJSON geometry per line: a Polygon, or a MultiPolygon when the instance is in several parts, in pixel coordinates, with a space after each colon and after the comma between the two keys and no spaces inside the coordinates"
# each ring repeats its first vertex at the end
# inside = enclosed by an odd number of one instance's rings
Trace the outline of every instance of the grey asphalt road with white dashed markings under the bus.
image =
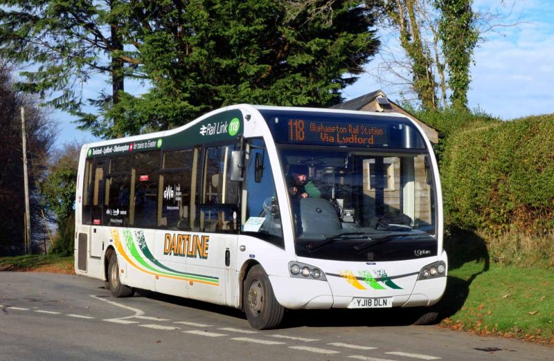
{"type": "Polygon", "coordinates": [[[554,360],[554,346],[411,326],[394,311],[303,311],[258,331],[241,311],[104,282],[0,272],[0,360],[554,360]],[[398,317],[396,317],[398,318],[398,317]]]}

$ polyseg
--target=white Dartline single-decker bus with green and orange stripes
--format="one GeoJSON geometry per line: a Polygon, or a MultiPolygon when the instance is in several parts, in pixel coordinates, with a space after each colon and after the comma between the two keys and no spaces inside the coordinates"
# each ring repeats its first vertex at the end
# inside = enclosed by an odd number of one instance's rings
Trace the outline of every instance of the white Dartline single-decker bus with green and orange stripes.
{"type": "Polygon", "coordinates": [[[254,328],[287,308],[431,306],[445,291],[436,158],[396,113],[240,104],[87,144],[75,213],[78,275],[115,297],[240,308],[254,328]]]}

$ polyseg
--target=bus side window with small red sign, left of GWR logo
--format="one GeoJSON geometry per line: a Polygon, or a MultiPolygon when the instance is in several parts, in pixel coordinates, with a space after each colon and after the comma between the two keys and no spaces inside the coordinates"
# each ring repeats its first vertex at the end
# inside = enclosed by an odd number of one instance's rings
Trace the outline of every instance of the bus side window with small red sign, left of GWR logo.
{"type": "Polygon", "coordinates": [[[141,151],[133,156],[134,218],[129,223],[136,227],[157,227],[159,156],[157,150],[141,151]]]}

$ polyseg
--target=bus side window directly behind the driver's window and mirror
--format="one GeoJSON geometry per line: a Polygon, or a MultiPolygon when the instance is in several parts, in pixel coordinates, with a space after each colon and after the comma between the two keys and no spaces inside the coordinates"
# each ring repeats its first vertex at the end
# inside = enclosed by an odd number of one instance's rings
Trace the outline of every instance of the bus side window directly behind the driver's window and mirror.
{"type": "Polygon", "coordinates": [[[201,232],[236,232],[239,182],[231,181],[233,147],[207,148],[204,152],[204,177],[200,204],[201,232]]]}

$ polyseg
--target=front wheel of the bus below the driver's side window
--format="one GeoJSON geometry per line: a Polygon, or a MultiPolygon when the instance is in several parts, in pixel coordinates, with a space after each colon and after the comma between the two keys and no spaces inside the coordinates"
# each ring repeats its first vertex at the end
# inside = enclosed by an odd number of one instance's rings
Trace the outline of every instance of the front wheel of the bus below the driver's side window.
{"type": "Polygon", "coordinates": [[[269,277],[260,265],[253,266],[244,280],[242,303],[253,328],[276,328],[283,321],[285,308],[275,299],[269,277]]]}

